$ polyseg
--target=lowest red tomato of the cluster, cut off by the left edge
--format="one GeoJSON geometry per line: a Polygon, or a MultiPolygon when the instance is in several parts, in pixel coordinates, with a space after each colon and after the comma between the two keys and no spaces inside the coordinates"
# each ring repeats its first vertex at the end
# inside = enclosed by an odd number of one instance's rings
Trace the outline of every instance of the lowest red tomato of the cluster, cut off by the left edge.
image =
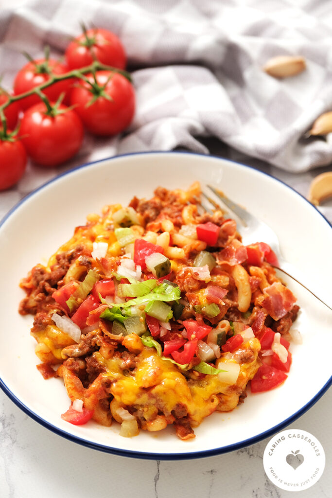
{"type": "Polygon", "coordinates": [[[1,138],[0,135],[0,190],[18,182],[25,171],[26,161],[26,152],[21,140],[16,137],[1,138]]]}

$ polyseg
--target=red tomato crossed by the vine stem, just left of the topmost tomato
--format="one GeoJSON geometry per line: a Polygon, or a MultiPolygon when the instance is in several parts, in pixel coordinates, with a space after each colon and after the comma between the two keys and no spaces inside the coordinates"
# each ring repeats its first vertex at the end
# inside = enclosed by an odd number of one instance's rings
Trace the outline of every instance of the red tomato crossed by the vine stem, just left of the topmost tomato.
{"type": "MultiPolygon", "coordinates": [[[[28,62],[22,69],[16,74],[14,80],[14,95],[20,95],[22,93],[28,92],[45,81],[50,79],[50,73],[61,75],[68,72],[67,66],[61,64],[54,59],[36,59],[34,62],[28,62]]],[[[71,86],[73,84],[73,79],[58,81],[53,85],[45,88],[43,93],[47,95],[49,100],[56,102],[59,96],[64,93],[65,100],[64,103],[69,102],[69,93],[71,86]]],[[[26,97],[19,102],[21,109],[25,110],[34,104],[40,103],[40,98],[38,95],[31,95],[26,97]]]]}

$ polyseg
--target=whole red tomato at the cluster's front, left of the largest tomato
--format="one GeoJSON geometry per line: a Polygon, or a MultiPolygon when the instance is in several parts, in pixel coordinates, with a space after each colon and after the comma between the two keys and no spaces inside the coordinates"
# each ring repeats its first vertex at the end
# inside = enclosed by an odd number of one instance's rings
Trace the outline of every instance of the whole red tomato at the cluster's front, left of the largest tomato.
{"type": "Polygon", "coordinates": [[[67,161],[83,141],[83,125],[75,113],[64,105],[61,114],[46,113],[43,102],[28,109],[22,118],[19,134],[27,153],[41,166],[52,167],[67,161]]]}

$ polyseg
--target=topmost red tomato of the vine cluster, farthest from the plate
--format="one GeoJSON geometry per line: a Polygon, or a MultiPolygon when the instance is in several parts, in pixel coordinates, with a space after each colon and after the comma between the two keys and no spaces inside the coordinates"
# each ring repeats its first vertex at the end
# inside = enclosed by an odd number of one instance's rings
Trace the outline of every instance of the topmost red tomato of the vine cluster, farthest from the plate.
{"type": "Polygon", "coordinates": [[[70,69],[89,66],[98,60],[108,66],[124,69],[126,54],[118,37],[107,29],[88,29],[71,41],[66,50],[70,69]]]}

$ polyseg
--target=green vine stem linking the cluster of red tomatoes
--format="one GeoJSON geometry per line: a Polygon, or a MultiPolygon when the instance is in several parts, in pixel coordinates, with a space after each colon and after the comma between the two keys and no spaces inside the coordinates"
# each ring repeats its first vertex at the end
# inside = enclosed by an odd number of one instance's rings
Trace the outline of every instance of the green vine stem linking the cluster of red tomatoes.
{"type": "Polygon", "coordinates": [[[91,86],[93,87],[94,83],[91,83],[88,80],[88,78],[86,78],[84,75],[86,73],[93,73],[94,74],[95,71],[98,71],[98,70],[105,70],[105,71],[112,71],[115,73],[120,73],[120,74],[122,74],[122,76],[124,76],[125,78],[127,78],[127,80],[129,80],[131,82],[131,77],[130,77],[129,73],[127,73],[127,71],[123,71],[122,69],[117,69],[117,68],[114,68],[111,66],[107,66],[106,64],[102,64],[99,61],[94,61],[92,64],[90,64],[90,66],[85,66],[85,67],[82,67],[80,69],[73,69],[72,71],[69,71],[68,73],[65,73],[65,74],[59,74],[59,75],[58,74],[51,74],[49,80],[47,80],[44,83],[41,83],[40,85],[32,88],[28,92],[25,92],[25,93],[22,93],[19,95],[8,95],[8,100],[0,106],[0,121],[1,121],[1,127],[2,127],[1,135],[6,136],[7,123],[6,123],[6,118],[4,116],[4,110],[6,107],[10,106],[10,104],[12,104],[13,102],[16,102],[18,100],[24,99],[25,97],[29,97],[30,95],[38,95],[39,97],[41,97],[40,94],[41,94],[41,91],[44,90],[44,88],[47,88],[47,87],[53,85],[53,83],[57,83],[58,81],[68,80],[70,78],[84,79],[85,81],[90,83],[91,86]]]}

